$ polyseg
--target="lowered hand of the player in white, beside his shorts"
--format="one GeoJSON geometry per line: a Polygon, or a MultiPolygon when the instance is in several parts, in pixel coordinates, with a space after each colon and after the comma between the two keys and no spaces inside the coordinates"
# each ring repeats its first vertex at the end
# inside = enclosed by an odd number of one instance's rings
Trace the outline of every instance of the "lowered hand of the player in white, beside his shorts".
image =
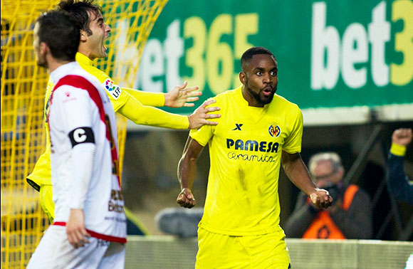
{"type": "Polygon", "coordinates": [[[85,215],[82,209],[70,209],[69,221],[66,223],[68,241],[74,248],[85,246],[89,243],[90,234],[85,228],[85,215]]]}

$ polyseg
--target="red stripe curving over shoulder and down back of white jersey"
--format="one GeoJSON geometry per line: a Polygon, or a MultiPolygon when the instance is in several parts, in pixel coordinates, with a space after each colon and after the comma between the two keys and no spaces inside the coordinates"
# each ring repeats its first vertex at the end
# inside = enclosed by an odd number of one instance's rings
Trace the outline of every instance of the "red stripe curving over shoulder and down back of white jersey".
{"type": "MultiPolygon", "coordinates": [[[[54,91],[57,90],[59,87],[61,87],[63,85],[68,85],[68,86],[72,86],[74,88],[80,88],[80,89],[83,89],[83,90],[87,90],[88,93],[89,93],[90,98],[98,106],[100,120],[102,120],[102,122],[106,126],[106,138],[108,139],[108,141],[111,144],[110,153],[112,155],[112,162],[116,166],[117,182],[119,183],[120,189],[122,189],[122,186],[120,185],[120,175],[119,175],[119,161],[118,161],[119,158],[117,157],[117,150],[116,150],[116,147],[114,145],[115,142],[111,141],[110,132],[112,130],[110,129],[110,124],[108,124],[108,122],[106,122],[106,120],[105,120],[105,109],[103,108],[102,98],[100,98],[100,94],[99,94],[98,89],[96,89],[95,86],[92,83],[90,83],[89,80],[83,78],[80,75],[66,75],[63,78],[61,78],[58,81],[58,83],[55,85],[55,87],[53,88],[52,93],[51,93],[51,104],[52,104],[52,101],[53,101],[54,91]]],[[[50,130],[50,126],[49,126],[49,130],[50,130]]]]}

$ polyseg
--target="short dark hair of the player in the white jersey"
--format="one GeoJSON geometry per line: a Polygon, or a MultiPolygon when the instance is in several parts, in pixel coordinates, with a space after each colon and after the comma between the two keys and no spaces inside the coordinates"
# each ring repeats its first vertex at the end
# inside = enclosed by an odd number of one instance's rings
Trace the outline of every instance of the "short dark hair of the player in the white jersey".
{"type": "Polygon", "coordinates": [[[80,43],[80,29],[64,11],[48,11],[38,17],[38,41],[50,48],[53,58],[75,60],[80,43]]]}

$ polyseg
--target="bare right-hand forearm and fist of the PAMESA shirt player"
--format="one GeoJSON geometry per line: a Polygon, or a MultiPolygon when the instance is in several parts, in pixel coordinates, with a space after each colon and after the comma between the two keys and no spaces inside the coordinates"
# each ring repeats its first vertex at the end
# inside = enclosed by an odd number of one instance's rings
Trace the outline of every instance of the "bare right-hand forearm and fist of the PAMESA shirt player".
{"type": "Polygon", "coordinates": [[[305,194],[310,196],[311,202],[319,209],[327,209],[333,204],[333,198],[324,189],[318,189],[308,173],[307,167],[301,159],[300,153],[282,153],[284,172],[288,178],[305,194]]]}

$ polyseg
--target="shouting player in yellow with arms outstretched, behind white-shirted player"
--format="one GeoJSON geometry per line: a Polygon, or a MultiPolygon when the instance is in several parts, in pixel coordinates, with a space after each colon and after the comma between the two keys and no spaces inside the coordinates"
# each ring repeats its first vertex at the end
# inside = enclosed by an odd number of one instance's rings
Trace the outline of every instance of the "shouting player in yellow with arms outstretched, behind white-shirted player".
{"type": "MultiPolygon", "coordinates": [[[[93,4],[93,0],[73,1],[62,0],[57,9],[68,11],[80,27],[80,44],[76,61],[80,66],[94,75],[100,83],[103,83],[105,90],[113,104],[115,112],[119,112],[136,124],[151,125],[156,127],[166,127],[172,129],[192,129],[202,125],[215,125],[206,119],[219,117],[219,115],[208,114],[219,110],[218,107],[206,107],[210,101],[204,102],[192,115],[175,115],[164,112],[152,106],[169,107],[192,107],[189,103],[198,100],[201,93],[194,92],[197,87],[186,88],[187,83],[175,87],[170,93],[157,94],[145,93],[139,90],[120,88],[103,71],[93,66],[93,60],[106,57],[106,48],[103,43],[108,39],[111,28],[108,26],[102,15],[102,8],[93,4]]],[[[48,101],[51,97],[51,90],[54,82],[49,80],[46,90],[44,105],[44,119],[47,120],[48,101]]],[[[47,124],[46,134],[48,134],[47,124]]],[[[54,204],[52,200],[51,186],[51,164],[50,164],[50,139],[47,137],[46,150],[38,159],[33,172],[27,176],[27,181],[34,189],[40,192],[40,201],[43,211],[45,211],[50,221],[54,218],[54,204]]]]}

